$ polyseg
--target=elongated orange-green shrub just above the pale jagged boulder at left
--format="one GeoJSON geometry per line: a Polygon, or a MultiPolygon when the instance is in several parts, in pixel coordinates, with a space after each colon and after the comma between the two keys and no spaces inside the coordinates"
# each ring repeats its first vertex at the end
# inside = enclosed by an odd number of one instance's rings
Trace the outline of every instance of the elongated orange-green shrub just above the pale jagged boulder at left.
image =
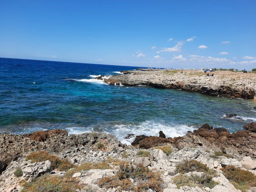
{"type": "Polygon", "coordinates": [[[52,170],[58,169],[59,171],[67,171],[70,168],[76,167],[76,165],[70,163],[68,159],[60,159],[57,156],[48,154],[47,151],[32,152],[26,156],[26,161],[28,160],[31,160],[32,163],[49,160],[52,163],[52,170]]]}

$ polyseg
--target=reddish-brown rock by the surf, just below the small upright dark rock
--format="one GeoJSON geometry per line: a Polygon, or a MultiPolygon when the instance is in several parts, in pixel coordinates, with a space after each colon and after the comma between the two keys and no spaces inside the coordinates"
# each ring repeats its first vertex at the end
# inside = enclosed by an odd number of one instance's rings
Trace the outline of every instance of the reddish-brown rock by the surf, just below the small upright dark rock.
{"type": "Polygon", "coordinates": [[[170,143],[171,139],[162,137],[149,136],[140,142],[140,148],[149,149],[156,146],[161,146],[164,143],[170,143]]]}

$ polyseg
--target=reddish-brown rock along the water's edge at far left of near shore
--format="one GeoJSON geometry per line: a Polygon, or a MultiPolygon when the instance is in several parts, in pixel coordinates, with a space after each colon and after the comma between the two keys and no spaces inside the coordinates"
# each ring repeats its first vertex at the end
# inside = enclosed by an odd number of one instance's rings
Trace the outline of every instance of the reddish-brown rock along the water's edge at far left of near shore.
{"type": "Polygon", "coordinates": [[[51,135],[59,135],[64,134],[68,136],[68,132],[61,129],[53,129],[53,130],[47,130],[47,131],[36,131],[33,133],[29,133],[28,135],[24,135],[28,137],[29,139],[36,140],[36,141],[46,141],[51,135]]]}

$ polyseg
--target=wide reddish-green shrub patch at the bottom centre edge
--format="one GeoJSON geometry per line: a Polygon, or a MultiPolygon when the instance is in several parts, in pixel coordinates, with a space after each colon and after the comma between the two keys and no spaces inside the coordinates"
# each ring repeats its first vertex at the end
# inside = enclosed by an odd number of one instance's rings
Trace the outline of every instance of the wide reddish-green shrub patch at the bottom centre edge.
{"type": "Polygon", "coordinates": [[[163,191],[162,184],[164,181],[160,177],[159,172],[153,172],[147,167],[138,166],[134,168],[131,165],[120,165],[119,171],[115,176],[104,177],[100,179],[98,185],[103,188],[118,188],[122,190],[133,190],[134,192],[144,192],[148,189],[153,191],[163,191]],[[136,180],[136,185],[132,186],[130,179],[136,180]]]}

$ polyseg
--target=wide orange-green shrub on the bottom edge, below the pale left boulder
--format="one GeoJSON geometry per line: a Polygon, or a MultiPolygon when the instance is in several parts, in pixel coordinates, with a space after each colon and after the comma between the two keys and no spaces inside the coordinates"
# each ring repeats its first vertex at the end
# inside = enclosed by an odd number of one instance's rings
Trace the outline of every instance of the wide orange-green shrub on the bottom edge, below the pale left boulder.
{"type": "Polygon", "coordinates": [[[79,183],[76,178],[64,178],[51,176],[50,174],[38,177],[32,182],[20,182],[23,186],[21,192],[76,192],[82,189],[84,184],[79,183]]]}

